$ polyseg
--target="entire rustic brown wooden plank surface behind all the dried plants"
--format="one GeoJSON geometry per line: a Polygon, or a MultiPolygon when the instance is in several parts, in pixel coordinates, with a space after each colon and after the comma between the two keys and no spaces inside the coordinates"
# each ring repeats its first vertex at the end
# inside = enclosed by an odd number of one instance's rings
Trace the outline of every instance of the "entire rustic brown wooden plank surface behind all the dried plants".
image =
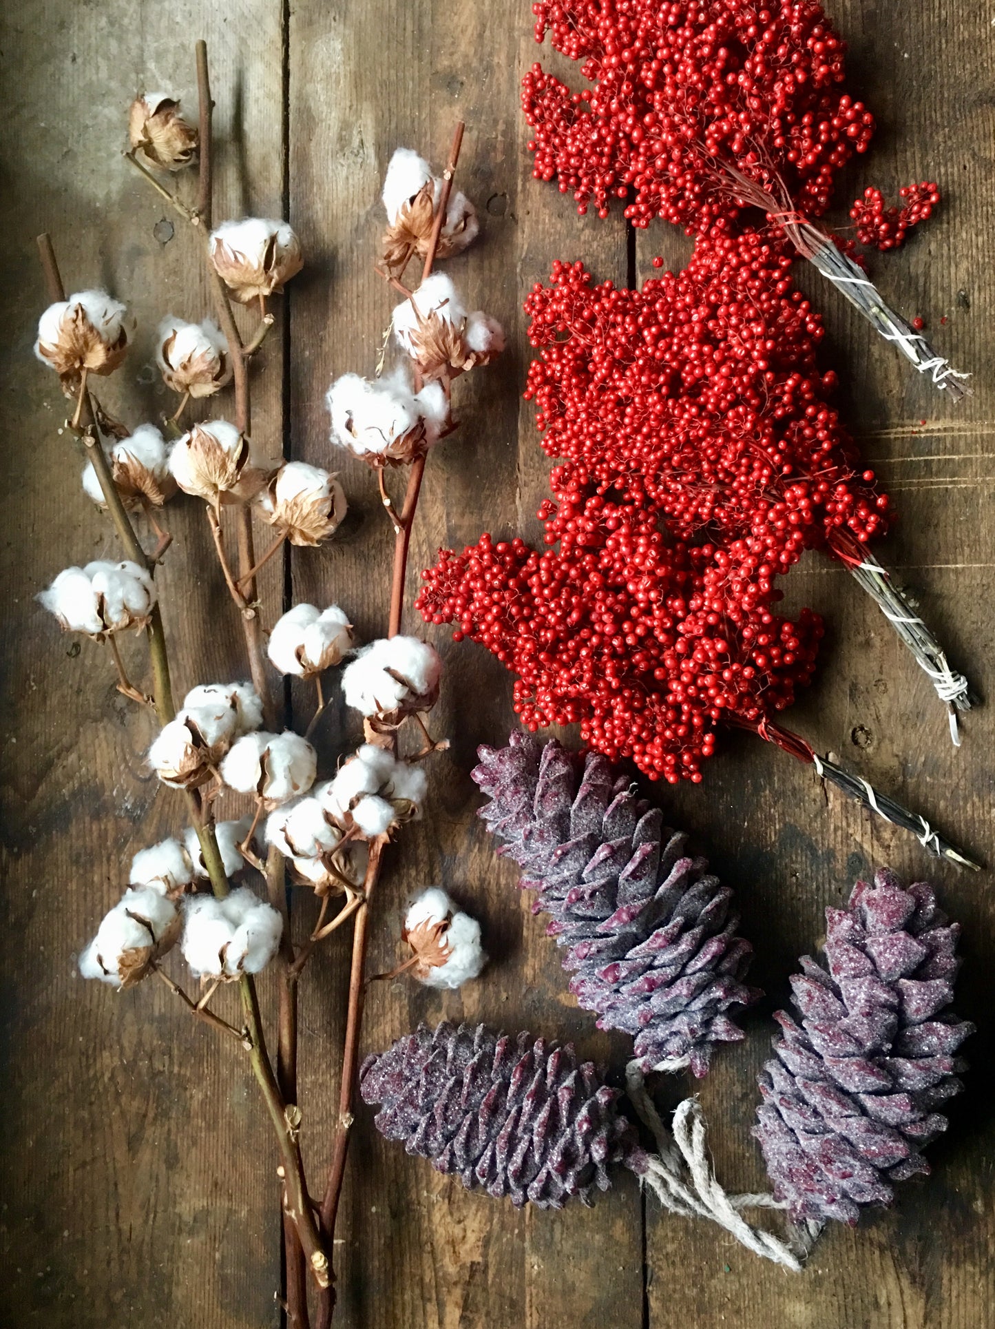
{"type": "MultiPolygon", "coordinates": [[[[828,356],[842,371],[853,428],[901,512],[885,561],[917,589],[955,661],[995,698],[995,19],[967,0],[833,0],[829,8],[852,43],[852,85],[881,125],[840,199],[869,182],[889,195],[910,179],[942,182],[935,219],[907,250],[875,260],[875,274],[899,308],[927,318],[941,351],[974,371],[976,395],[952,411],[834,292],[804,280],[825,311],[828,356]]],[[[441,544],[461,546],[484,529],[535,532],[547,468],[519,400],[529,359],[521,302],[530,284],[547,278],[554,258],[582,256],[599,279],[624,282],[648,275],[654,254],[674,266],[688,251],[660,223],[630,239],[618,218],[581,221],[569,198],[531,179],[518,105],[521,76],[539,54],[531,23],[525,0],[20,0],[4,8],[4,1325],[279,1321],[275,1154],[244,1066],[210,1030],[191,1027],[165,990],[146,985],[116,999],[76,974],[76,953],[117,898],[132,852],[181,821],[177,800],[143,766],[147,716],[113,690],[97,647],[61,638],[33,598],[60,567],[116,557],[60,429],[65,403],[31,355],[45,303],[35,235],[52,231],[69,288],[106,284],[134,306],[139,339],[108,404],[133,421],[158,415],[166,396],[151,364],[155,323],[166,311],[201,318],[210,302],[193,238],[121,158],[124,116],[142,88],[175,89],[193,106],[193,41],[206,37],[218,101],[215,215],[288,215],[307,255],[256,373],[255,433],[282,441],[287,456],[329,465],[324,392],[345,369],[372,369],[392,303],[371,271],[384,167],[399,144],[441,165],[464,118],[458,183],[477,201],[484,235],[450,270],[472,306],[502,319],[509,351],[458,384],[465,428],[428,466],[413,591],[441,544]]],[[[542,58],[566,64],[546,49],[542,58]]],[[[287,589],[295,599],[339,599],[372,637],[385,623],[391,532],[369,473],[347,465],[344,481],[353,510],[345,537],[317,554],[294,552],[283,582],[280,569],[271,570],[266,594],[271,617],[287,589]]],[[[175,544],[162,586],[177,682],[240,676],[240,642],[206,526],[189,501],[170,506],[169,525],[175,544]]],[[[813,605],[830,625],[794,727],[995,864],[992,710],[968,716],[955,751],[927,682],[838,566],[809,556],[788,585],[792,603],[813,605]]],[[[569,1037],[619,1070],[624,1041],[598,1034],[575,1009],[553,944],[474,819],[474,748],[511,727],[510,678],[482,650],[433,635],[448,667],[434,726],[452,750],[434,764],[429,819],[391,851],[371,962],[384,970],[396,961],[404,898],[428,882],[442,882],[482,917],[493,961],[461,994],[377,985],[364,1047],[445,1015],[569,1037]]],[[[133,650],[141,667],[139,643],[133,650]]],[[[294,696],[299,715],[310,704],[294,696]]],[[[321,730],[323,768],[355,739],[352,719],[335,712],[321,730]]],[[[753,979],[770,994],[747,1018],[747,1041],[717,1057],[700,1086],[719,1174],[731,1188],[763,1184],[748,1131],[769,1013],[785,998],[796,957],[816,944],[824,906],[841,901],[856,876],[889,863],[930,876],[963,924],[959,1007],[979,1027],[967,1049],[967,1092],[954,1104],[947,1139],[931,1150],[933,1176],[905,1185],[893,1212],[869,1216],[858,1231],[833,1227],[805,1275],[793,1277],[711,1225],[662,1215],[631,1179],[592,1212],[515,1213],[468,1195],[384,1146],[361,1108],[336,1249],[343,1329],[995,1324],[995,1130],[982,1088],[992,1057],[991,873],[937,867],[913,840],[751,738],[723,747],[701,787],[660,792],[675,823],[737,888],[743,930],[757,950],[753,979]]],[[[311,910],[295,898],[300,933],[311,910]]],[[[303,985],[300,1100],[316,1177],[337,1092],[347,969],[347,938],[336,938],[303,985]]],[[[266,983],[263,994],[272,995],[266,983]]],[[[675,1080],[667,1091],[676,1102],[688,1087],[675,1080]]]]}

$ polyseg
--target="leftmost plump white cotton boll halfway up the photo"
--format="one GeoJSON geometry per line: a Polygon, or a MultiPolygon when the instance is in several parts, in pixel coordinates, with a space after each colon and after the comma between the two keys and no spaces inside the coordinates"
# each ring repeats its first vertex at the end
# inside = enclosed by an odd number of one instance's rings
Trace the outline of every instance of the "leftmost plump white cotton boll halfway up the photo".
{"type": "Polygon", "coordinates": [[[39,601],[64,631],[101,641],[108,633],[145,627],[155,603],[155,586],[149,573],[128,558],[120,563],[98,560],[85,567],[64,569],[39,601]]]}

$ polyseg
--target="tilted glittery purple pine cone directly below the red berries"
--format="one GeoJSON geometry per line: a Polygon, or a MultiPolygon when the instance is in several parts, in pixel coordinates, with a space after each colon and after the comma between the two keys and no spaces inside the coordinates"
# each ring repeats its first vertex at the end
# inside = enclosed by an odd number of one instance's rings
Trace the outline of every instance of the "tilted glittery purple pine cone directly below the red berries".
{"type": "Polygon", "coordinates": [[[522,888],[539,892],[533,909],[567,948],[570,990],[600,1029],[634,1035],[643,1071],[704,1075],[712,1043],[743,1038],[727,1011],[760,995],[741,981],[752,948],[736,936],[732,890],[606,758],[525,734],[478,755],[473,779],[490,799],[480,816],[522,888]]]}

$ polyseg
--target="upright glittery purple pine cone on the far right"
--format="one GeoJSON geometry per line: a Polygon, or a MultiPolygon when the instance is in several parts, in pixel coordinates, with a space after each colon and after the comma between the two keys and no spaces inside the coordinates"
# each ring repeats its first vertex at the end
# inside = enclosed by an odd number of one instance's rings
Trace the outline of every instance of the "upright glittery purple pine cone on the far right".
{"type": "Polygon", "coordinates": [[[893,1181],[929,1172],[922,1150],[947,1127],[937,1108],[963,1087],[954,1054],[974,1031],[950,1010],[959,932],[931,886],[902,889],[891,872],[826,909],[828,968],[804,956],[801,1023],[774,1015],[784,1037],[753,1128],[793,1217],[853,1224],[891,1201],[893,1181]]]}

